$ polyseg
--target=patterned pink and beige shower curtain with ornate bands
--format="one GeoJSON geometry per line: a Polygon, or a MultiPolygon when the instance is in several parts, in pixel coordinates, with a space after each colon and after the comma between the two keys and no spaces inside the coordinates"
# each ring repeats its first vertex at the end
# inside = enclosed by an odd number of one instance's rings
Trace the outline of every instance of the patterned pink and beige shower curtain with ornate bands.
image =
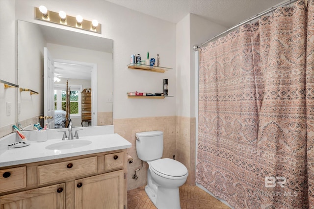
{"type": "Polygon", "coordinates": [[[235,209],[314,208],[314,0],[201,47],[198,124],[197,183],[235,209]]]}

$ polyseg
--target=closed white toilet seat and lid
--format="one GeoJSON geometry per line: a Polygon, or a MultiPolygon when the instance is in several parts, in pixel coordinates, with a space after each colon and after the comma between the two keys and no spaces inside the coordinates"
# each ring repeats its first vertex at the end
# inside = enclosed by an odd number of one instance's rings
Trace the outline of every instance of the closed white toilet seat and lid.
{"type": "Polygon", "coordinates": [[[150,162],[149,169],[157,175],[168,179],[181,179],[188,175],[187,168],[182,163],[170,158],[162,158],[150,162]]]}

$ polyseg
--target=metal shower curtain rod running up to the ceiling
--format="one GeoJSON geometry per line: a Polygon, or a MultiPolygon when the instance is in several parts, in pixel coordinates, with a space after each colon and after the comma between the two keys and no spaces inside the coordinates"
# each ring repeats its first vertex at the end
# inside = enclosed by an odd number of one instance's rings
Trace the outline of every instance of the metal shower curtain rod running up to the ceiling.
{"type": "MultiPolygon", "coordinates": [[[[261,14],[257,14],[256,16],[251,17],[251,18],[249,18],[248,20],[246,20],[246,21],[244,21],[244,22],[242,22],[242,23],[238,23],[238,24],[236,24],[235,26],[229,28],[228,30],[226,30],[226,31],[224,31],[224,32],[222,32],[222,33],[220,33],[220,34],[215,35],[213,38],[207,40],[206,42],[204,42],[204,43],[201,44],[201,45],[194,45],[194,46],[193,46],[193,49],[194,49],[194,51],[197,51],[199,48],[201,48],[201,46],[204,46],[204,45],[208,44],[208,43],[211,42],[212,40],[217,39],[218,37],[224,35],[225,33],[228,33],[228,32],[230,32],[230,31],[234,30],[235,28],[241,26],[242,24],[249,23],[249,22],[251,22],[252,20],[258,19],[258,18],[260,18],[260,17],[262,17],[262,16],[264,16],[264,15],[266,15],[266,14],[268,14],[268,13],[274,11],[275,9],[277,9],[277,8],[279,8],[279,7],[287,6],[287,5],[291,4],[291,3],[294,3],[295,1],[297,1],[297,0],[288,0],[287,2],[282,3],[282,4],[278,5],[278,6],[271,7],[270,9],[266,10],[265,12],[262,12],[261,14]]],[[[306,3],[307,3],[307,0],[305,0],[305,1],[306,1],[306,3]]]]}

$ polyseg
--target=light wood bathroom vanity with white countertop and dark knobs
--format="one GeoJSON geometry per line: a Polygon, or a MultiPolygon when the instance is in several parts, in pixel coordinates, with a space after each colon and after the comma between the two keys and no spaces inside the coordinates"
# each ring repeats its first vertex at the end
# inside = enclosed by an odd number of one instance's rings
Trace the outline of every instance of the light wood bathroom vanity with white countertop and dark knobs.
{"type": "Polygon", "coordinates": [[[0,208],[127,208],[125,177],[131,143],[118,134],[75,140],[91,143],[48,150],[45,147],[67,141],[31,141],[1,154],[0,208]]]}

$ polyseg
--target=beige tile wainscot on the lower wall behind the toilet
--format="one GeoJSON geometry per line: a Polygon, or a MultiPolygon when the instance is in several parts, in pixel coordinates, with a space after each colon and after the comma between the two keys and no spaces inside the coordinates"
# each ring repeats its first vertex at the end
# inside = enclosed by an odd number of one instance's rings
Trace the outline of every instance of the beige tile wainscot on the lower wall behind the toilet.
{"type": "Polygon", "coordinates": [[[195,118],[162,116],[114,119],[113,125],[115,133],[132,143],[128,149],[128,155],[133,158],[133,163],[128,164],[128,190],[147,183],[147,163],[143,163],[143,168],[136,172],[138,179],[132,179],[135,170],[141,167],[141,160],[136,154],[135,134],[155,130],[163,131],[162,158],[173,158],[176,155],[176,160],[188,169],[186,183],[195,184],[195,118]]]}

